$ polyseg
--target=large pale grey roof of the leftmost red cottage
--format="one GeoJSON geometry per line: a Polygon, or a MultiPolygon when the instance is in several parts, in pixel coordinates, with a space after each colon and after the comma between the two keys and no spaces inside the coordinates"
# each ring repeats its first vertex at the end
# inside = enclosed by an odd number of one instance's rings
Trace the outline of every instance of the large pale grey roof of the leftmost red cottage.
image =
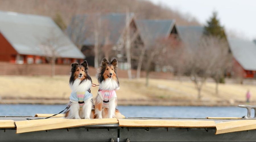
{"type": "Polygon", "coordinates": [[[19,54],[45,56],[49,54],[46,40],[55,38],[52,43],[58,46],[58,57],[84,59],[50,17],[0,11],[0,32],[19,54]]]}

